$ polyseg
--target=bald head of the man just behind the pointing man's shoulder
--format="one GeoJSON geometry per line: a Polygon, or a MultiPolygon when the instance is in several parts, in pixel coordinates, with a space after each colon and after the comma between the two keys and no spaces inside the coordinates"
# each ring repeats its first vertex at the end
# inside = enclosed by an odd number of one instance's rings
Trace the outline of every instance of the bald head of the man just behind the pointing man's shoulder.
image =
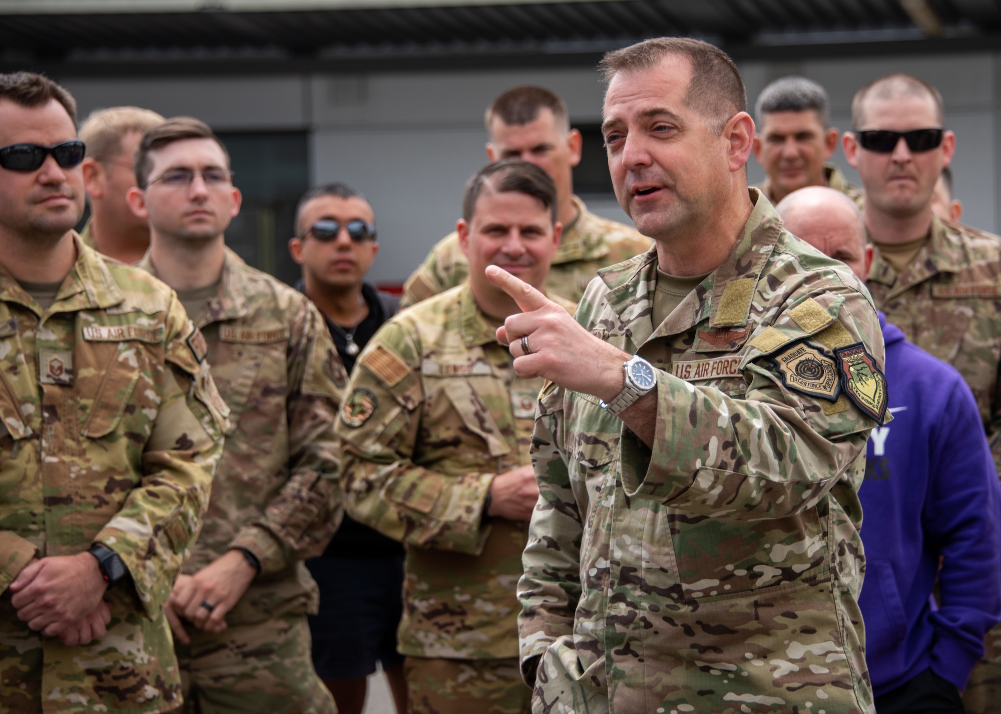
{"type": "Polygon", "coordinates": [[[868,273],[866,225],[855,202],[841,191],[808,186],[793,191],[776,206],[786,230],[852,269],[860,280],[868,273]]]}

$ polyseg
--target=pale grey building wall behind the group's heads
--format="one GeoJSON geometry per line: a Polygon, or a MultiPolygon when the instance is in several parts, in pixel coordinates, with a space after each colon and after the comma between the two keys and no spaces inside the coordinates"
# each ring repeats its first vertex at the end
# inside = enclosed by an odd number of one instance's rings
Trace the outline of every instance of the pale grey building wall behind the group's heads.
{"type": "MultiPolygon", "coordinates": [[[[946,101],[946,123],[957,133],[953,162],[964,221],[996,231],[999,93],[990,53],[931,57],[748,62],[741,66],[753,106],[764,86],[800,73],[831,95],[832,121],[850,128],[851,99],[870,79],[904,71],[936,85],[946,101]]],[[[601,120],[603,85],[583,69],[398,72],[303,77],[204,77],[77,79],[65,82],[91,109],[137,104],[166,116],[189,114],[218,130],[304,129],[310,132],[310,179],[341,180],[371,200],[381,253],[376,282],[401,282],[428,248],[450,231],[459,213],[462,185],[485,160],[482,112],[517,84],[539,84],[563,96],[573,121],[601,120]]],[[[835,157],[857,182],[839,150],[835,157]]],[[[752,181],[763,176],[752,159],[752,181]]],[[[628,220],[614,201],[592,203],[599,213],[628,220]]]]}

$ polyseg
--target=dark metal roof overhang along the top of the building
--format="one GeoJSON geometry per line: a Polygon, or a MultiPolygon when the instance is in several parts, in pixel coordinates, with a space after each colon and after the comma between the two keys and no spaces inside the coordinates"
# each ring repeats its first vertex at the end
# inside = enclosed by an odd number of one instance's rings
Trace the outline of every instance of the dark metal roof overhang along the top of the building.
{"type": "Polygon", "coordinates": [[[660,35],[735,59],[981,51],[1001,47],[1001,0],[0,0],[0,71],[580,65],[660,35]]]}

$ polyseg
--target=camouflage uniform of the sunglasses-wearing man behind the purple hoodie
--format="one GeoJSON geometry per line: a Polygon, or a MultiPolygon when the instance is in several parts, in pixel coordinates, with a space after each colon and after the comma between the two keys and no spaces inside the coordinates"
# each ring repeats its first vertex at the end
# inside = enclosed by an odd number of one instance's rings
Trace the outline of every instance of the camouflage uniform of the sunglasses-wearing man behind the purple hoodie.
{"type": "MultiPolygon", "coordinates": [[[[876,306],[963,375],[1001,473],[1001,238],[932,216],[929,240],[902,274],[875,250],[867,285],[876,306]]],[[[1001,625],[985,644],[964,697],[971,714],[997,711],[1001,700],[1001,625]]]]}

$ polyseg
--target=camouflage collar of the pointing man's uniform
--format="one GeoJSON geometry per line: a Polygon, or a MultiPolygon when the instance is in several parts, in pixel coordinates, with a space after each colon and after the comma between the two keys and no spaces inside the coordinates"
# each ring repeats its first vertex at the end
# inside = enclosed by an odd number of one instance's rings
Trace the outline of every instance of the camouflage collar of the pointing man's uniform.
{"type": "Polygon", "coordinates": [[[782,234],[782,220],[772,204],[759,189],[748,190],[755,207],[730,255],[661,325],[653,325],[649,317],[657,286],[656,245],[625,263],[598,271],[610,288],[609,306],[623,323],[633,323],[630,337],[637,346],[654,337],[684,332],[707,319],[719,332],[747,325],[758,281],[782,234]],[[645,312],[646,320],[640,319],[645,312]]]}

